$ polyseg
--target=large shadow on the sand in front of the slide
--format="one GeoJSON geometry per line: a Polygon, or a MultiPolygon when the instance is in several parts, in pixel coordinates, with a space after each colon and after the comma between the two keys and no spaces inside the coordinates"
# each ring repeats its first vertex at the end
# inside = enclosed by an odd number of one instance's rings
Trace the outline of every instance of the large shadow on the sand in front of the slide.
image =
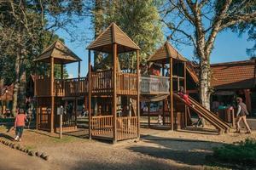
{"type": "Polygon", "coordinates": [[[127,149],[143,155],[193,166],[211,166],[212,162],[207,161],[206,156],[212,155],[213,147],[223,144],[198,139],[162,138],[150,135],[143,139],[143,143],[146,144],[129,146],[127,149]]]}

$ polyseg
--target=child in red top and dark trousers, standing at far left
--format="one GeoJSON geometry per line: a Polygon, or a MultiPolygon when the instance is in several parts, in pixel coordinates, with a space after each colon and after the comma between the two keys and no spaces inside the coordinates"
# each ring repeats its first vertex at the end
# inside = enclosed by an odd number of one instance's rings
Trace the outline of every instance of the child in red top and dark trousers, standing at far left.
{"type": "Polygon", "coordinates": [[[23,129],[25,127],[26,115],[23,109],[19,110],[18,115],[15,118],[15,141],[21,141],[23,129]]]}

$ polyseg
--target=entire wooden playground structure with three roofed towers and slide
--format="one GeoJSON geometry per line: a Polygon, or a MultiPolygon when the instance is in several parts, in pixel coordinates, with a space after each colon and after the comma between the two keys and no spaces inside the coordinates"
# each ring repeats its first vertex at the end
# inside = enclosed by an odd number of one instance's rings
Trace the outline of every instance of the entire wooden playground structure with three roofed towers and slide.
{"type": "MultiPolygon", "coordinates": [[[[183,58],[171,44],[166,42],[148,62],[161,65],[162,75],[143,75],[139,67],[139,50],[135,42],[124,31],[112,23],[87,47],[88,74],[80,77],[80,61],[76,54],[57,41],[35,59],[35,62],[49,63],[49,72],[37,73],[34,94],[37,99],[37,128],[49,132],[59,130],[57,107],[67,108],[63,116],[63,130],[77,128],[78,99],[83,99],[84,108],[89,112],[89,138],[109,139],[116,143],[125,139],[140,137],[141,101],[150,105],[152,100],[162,101],[164,125],[170,129],[187,127],[189,108],[219,132],[229,132],[230,126],[211,111],[190,98],[195,107],[187,105],[177,95],[180,86],[187,87],[187,59],[183,58]],[[108,70],[95,70],[91,65],[91,51],[100,52],[111,58],[108,70]],[[122,71],[119,54],[136,58],[135,71],[122,71]],[[63,65],[78,62],[78,77],[63,78],[63,65]],[[61,78],[55,78],[55,65],[61,65],[61,78]],[[169,74],[166,66],[170,68],[169,74]]],[[[150,116],[148,114],[150,120],[150,116]]],[[[148,121],[150,123],[150,121],[148,121]]]]}

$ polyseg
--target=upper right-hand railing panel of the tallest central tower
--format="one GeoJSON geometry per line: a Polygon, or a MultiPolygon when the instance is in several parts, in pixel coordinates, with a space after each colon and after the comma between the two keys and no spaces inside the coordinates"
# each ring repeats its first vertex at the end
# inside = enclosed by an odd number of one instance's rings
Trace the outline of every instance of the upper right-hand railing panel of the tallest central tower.
{"type": "Polygon", "coordinates": [[[137,94],[137,74],[119,73],[117,77],[117,94],[137,94]]]}

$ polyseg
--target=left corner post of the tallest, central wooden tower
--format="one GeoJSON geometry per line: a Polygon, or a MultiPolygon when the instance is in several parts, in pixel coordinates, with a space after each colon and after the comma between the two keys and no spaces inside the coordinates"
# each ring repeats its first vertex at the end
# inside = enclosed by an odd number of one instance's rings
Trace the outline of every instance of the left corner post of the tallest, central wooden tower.
{"type": "Polygon", "coordinates": [[[88,54],[88,114],[89,114],[89,139],[91,139],[91,83],[90,83],[90,77],[91,77],[91,69],[90,69],[90,50],[88,54]]]}

